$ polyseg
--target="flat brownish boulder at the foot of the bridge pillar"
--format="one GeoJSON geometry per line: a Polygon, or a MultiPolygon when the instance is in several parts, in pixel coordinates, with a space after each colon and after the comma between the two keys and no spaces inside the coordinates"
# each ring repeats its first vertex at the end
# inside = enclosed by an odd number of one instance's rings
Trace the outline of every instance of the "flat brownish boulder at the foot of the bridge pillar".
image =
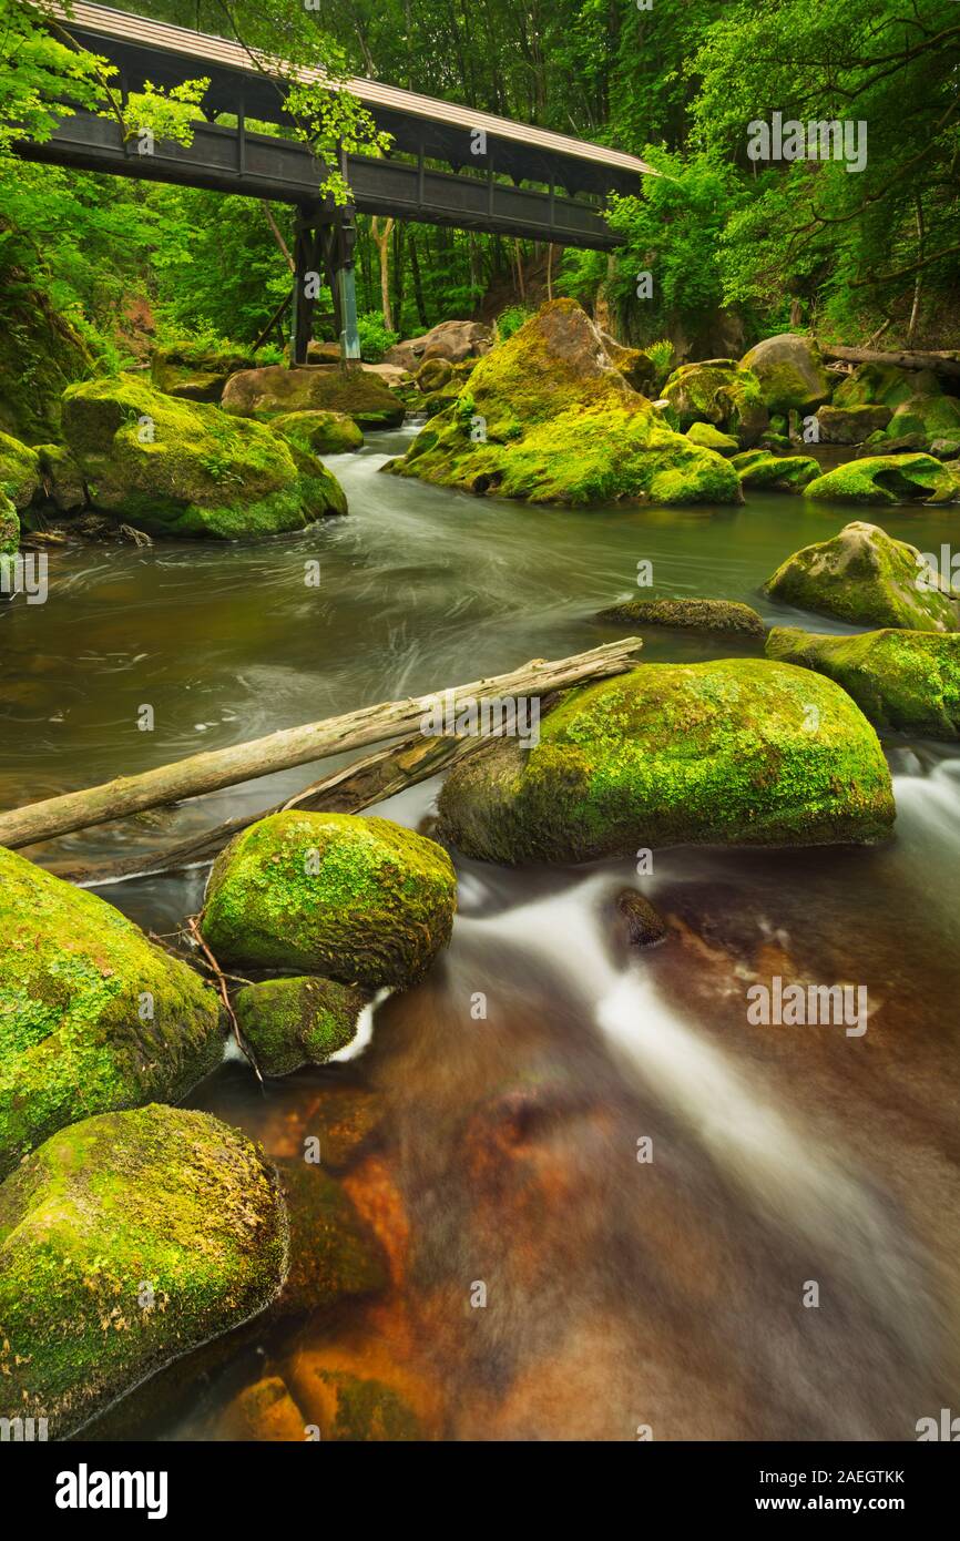
{"type": "Polygon", "coordinates": [[[370,370],[342,370],[336,364],[287,368],[271,364],[242,370],[227,382],[223,411],[240,418],[279,418],[290,411],[341,411],[361,428],[394,428],[404,404],[370,370]]]}

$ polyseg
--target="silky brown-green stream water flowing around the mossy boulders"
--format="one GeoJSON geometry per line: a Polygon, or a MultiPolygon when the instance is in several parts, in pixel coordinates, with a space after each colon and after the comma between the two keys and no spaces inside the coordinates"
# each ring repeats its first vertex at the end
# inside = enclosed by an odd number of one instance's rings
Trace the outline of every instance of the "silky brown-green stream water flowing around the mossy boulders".
{"type": "MultiPolygon", "coordinates": [[[[849,510],[775,495],[532,510],[379,476],[405,442],[331,459],[351,515],[299,536],[54,553],[48,603],[0,616],[2,803],[579,652],[621,635],[593,616],[643,592],[644,559],[658,595],[840,629],[760,586],[849,510]]],[[[957,515],[871,518],[938,550],[957,515]]],[[[649,661],[737,650],[757,649],[644,640],[649,661]]],[[[448,1439],[909,1439],[918,1418],[960,1410],[960,758],[888,752],[898,821],[883,848],[664,851],[639,878],[630,863],[459,860],[448,952],[381,1000],[337,1063],[259,1088],[228,1057],[191,1103],[277,1159],[319,1136],[388,1287],[222,1339],[128,1398],[109,1433],[223,1438],[225,1408],[262,1376],[319,1422],[339,1371],[396,1388],[448,1439]],[[669,917],[661,946],[627,946],[626,886],[669,917]],[[868,1031],[752,1026],[746,991],[777,974],[864,985],[868,1031]]],[[[314,774],[39,857],[149,849],[314,774]]],[[[416,828],[435,794],[378,812],[416,828]]],[[[203,877],[100,892],[165,934],[199,909],[203,877]]]]}

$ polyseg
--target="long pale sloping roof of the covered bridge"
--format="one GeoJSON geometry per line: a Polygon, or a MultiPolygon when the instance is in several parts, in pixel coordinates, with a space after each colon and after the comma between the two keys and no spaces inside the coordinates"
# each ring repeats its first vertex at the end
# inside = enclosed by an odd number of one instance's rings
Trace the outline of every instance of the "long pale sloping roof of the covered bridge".
{"type": "MultiPolygon", "coordinates": [[[[51,11],[80,43],[114,62],[129,62],[137,72],[149,74],[154,85],[182,77],[183,65],[190,63],[197,74],[211,77],[210,96],[217,111],[236,109],[237,85],[242,80],[248,116],[265,122],[285,119],[277,94],[280,80],[276,62],[265,54],[251,57],[242,43],[170,26],[166,22],[151,22],[109,6],[86,5],[85,0],[74,0],[69,14],[60,0],[52,0],[51,11]]],[[[299,69],[297,74],[307,82],[328,80],[321,69],[299,69]]],[[[638,156],[569,134],[555,134],[552,129],[515,123],[493,112],[421,96],[418,91],[361,77],[328,83],[334,89],[345,86],[357,96],[378,125],[393,134],[398,149],[416,153],[422,145],[428,157],[448,160],[456,170],[472,163],[487,168],[485,157],[476,162],[470,153],[472,134],[482,129],[496,170],[512,176],[515,182],[549,182],[553,177],[570,191],[636,193],[641,176],[658,176],[638,156]]]]}

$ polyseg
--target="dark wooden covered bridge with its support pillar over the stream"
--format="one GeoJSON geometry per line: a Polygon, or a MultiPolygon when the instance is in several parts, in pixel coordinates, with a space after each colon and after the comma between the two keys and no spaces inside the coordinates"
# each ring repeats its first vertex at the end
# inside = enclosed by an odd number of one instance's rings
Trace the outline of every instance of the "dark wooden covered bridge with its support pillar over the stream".
{"type": "MultiPolygon", "coordinates": [[[[117,68],[122,99],[185,79],[208,77],[206,119],[190,146],[157,142],[142,153],[119,122],[74,112],[45,143],[23,143],[32,160],[83,171],[174,182],[297,206],[293,293],[293,359],[304,362],[314,294],[307,280],[324,273],[330,285],[344,356],[359,358],[353,282],[354,211],[431,225],[521,236],[566,247],[613,250],[619,237],[603,216],[607,193],[636,193],[643,174],[656,174],[636,156],[566,134],[513,123],[490,112],[401,91],[376,80],[333,83],[348,89],[391,136],[382,157],[341,154],[353,203],[336,208],[319,197],[328,166],[297,140],[254,133],[250,122],[290,126],[282,68],[242,43],[151,22],[76,0],[51,6],[76,42],[117,68]],[[211,122],[233,119],[231,126],[211,122]],[[436,170],[448,166],[450,170],[436,170]]],[[[321,71],[299,77],[324,83],[321,71]]]]}

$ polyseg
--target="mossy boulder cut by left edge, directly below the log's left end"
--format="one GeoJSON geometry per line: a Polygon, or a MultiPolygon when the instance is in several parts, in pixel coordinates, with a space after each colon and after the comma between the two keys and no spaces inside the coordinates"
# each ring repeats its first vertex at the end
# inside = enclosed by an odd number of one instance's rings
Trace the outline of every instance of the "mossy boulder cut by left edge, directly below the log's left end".
{"type": "Polygon", "coordinates": [[[211,986],[112,905],[0,848],[0,1176],[65,1123],[179,1100],[222,1053],[211,986]]]}

